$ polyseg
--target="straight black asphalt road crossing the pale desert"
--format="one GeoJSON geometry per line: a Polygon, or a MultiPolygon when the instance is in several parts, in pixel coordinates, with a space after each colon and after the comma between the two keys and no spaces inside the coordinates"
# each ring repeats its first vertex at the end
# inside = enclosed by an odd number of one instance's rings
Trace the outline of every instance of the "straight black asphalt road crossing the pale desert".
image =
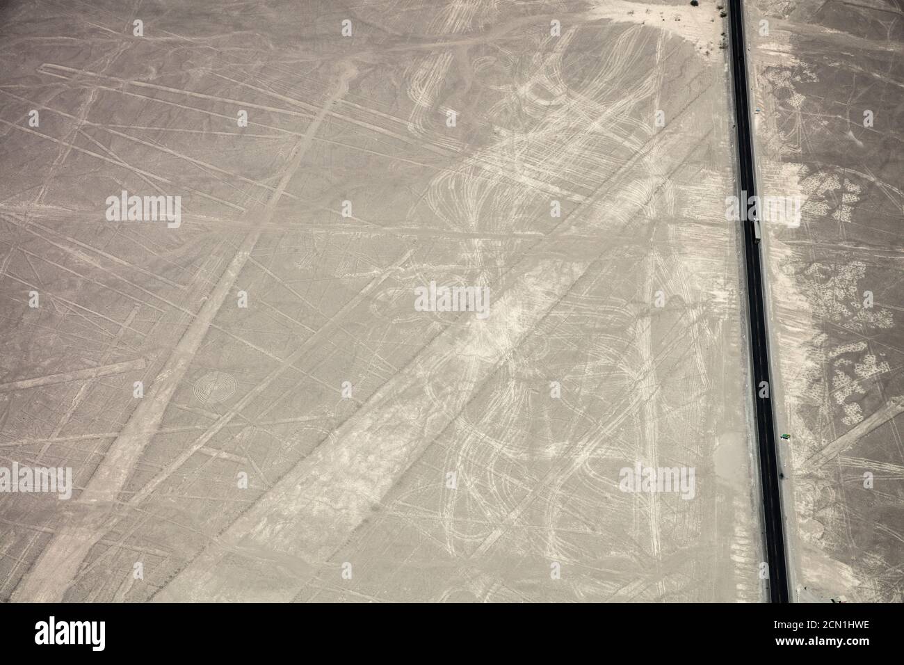
{"type": "MultiPolygon", "coordinates": [[[[757,184],[753,163],[753,148],[750,139],[749,87],[743,14],[744,10],[741,0],[731,0],[731,67],[738,129],[739,189],[741,192],[746,192],[748,196],[755,196],[757,194],[757,184]]],[[[750,352],[754,376],[753,399],[757,413],[759,473],[763,489],[769,598],[773,603],[787,603],[785,529],[781,489],[779,486],[780,480],[778,478],[776,432],[772,412],[772,388],[769,381],[768,335],[766,329],[766,305],[763,297],[761,245],[757,238],[754,223],[752,221],[744,221],[742,223],[744,226],[744,254],[747,263],[750,352]],[[765,393],[762,389],[764,382],[768,386],[768,392],[765,393]],[[761,396],[763,394],[765,396],[761,396]]]]}

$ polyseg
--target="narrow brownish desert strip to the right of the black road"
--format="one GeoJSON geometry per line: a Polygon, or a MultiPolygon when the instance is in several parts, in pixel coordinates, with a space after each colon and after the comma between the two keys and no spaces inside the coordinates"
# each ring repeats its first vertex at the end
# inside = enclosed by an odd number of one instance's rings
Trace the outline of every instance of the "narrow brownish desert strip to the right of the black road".
{"type": "Polygon", "coordinates": [[[904,600],[904,11],[749,5],[773,365],[798,600],[904,600]],[[767,34],[761,33],[767,22],[767,34]]]}

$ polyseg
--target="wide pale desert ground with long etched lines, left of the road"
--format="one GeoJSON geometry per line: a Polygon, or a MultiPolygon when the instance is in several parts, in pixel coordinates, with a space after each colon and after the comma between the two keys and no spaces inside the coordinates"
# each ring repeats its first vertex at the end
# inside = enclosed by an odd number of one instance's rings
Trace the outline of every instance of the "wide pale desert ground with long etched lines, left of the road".
{"type": "MultiPolygon", "coordinates": [[[[716,3],[14,0],[0,19],[0,464],[74,485],[0,493],[0,600],[766,599],[716,3]],[[111,214],[124,191],[178,196],[179,219],[111,214]],[[419,307],[431,282],[488,307],[419,307]],[[692,491],[626,491],[636,467],[692,470],[692,491]]],[[[855,178],[872,204],[792,251],[861,256],[890,317],[899,83],[860,81],[886,86],[855,129],[888,151],[855,178]]],[[[797,347],[834,324],[813,320],[777,321],[787,363],[816,362],[797,347]]],[[[831,345],[873,362],[851,378],[862,422],[900,394],[870,320],[831,345]]],[[[801,451],[847,431],[782,378],[801,451]]],[[[794,479],[817,537],[825,494],[872,465],[823,538],[856,518],[873,558],[854,565],[884,561],[889,598],[894,442],[794,479]]]]}

